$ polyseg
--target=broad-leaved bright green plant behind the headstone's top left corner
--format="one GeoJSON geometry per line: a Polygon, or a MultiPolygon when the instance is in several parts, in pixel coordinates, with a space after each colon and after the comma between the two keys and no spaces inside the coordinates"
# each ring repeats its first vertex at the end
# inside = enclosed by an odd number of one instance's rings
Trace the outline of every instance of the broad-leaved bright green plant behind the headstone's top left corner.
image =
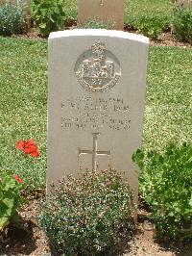
{"type": "Polygon", "coordinates": [[[65,0],[32,0],[31,12],[36,27],[44,36],[62,29],[65,21],[65,0]]]}

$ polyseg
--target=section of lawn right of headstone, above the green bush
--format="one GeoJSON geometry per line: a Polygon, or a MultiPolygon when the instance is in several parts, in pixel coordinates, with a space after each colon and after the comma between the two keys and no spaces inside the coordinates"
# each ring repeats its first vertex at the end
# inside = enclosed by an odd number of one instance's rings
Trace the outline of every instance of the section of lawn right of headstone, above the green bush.
{"type": "Polygon", "coordinates": [[[151,47],[147,79],[144,147],[192,141],[192,50],[151,47]]]}

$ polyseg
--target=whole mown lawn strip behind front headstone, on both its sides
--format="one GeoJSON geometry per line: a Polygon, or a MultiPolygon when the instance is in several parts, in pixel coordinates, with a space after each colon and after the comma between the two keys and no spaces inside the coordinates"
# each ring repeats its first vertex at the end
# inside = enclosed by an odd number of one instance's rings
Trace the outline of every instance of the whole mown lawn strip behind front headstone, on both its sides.
{"type": "MultiPolygon", "coordinates": [[[[192,50],[151,47],[144,148],[192,140],[192,50]]],[[[46,172],[47,41],[0,38],[0,168],[42,188],[46,172]],[[17,151],[34,138],[40,158],[17,151]]]]}

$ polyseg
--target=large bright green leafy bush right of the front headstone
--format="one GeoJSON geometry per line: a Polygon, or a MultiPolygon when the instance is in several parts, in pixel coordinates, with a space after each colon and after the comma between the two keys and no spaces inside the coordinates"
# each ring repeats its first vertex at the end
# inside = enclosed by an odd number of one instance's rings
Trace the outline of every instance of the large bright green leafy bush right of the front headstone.
{"type": "Polygon", "coordinates": [[[158,237],[192,238],[192,144],[170,143],[164,153],[137,150],[133,160],[158,237]]]}

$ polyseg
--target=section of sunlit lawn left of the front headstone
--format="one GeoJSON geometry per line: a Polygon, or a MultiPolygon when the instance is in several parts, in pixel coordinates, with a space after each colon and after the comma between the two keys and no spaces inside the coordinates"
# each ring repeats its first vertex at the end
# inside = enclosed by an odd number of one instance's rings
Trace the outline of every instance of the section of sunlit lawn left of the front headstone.
{"type": "Polygon", "coordinates": [[[0,166],[42,187],[46,169],[46,41],[0,38],[0,166]],[[16,150],[19,140],[34,138],[41,157],[16,150]]]}

